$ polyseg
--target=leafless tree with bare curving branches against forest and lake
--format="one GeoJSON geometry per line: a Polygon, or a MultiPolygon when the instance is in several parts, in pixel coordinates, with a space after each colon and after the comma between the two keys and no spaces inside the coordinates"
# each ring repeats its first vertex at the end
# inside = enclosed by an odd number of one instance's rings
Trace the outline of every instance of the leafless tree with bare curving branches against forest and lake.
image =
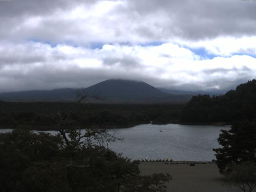
{"type": "Polygon", "coordinates": [[[108,149],[108,142],[120,140],[120,138],[115,136],[116,132],[114,129],[105,129],[94,125],[90,126],[89,128],[85,128],[84,131],[82,131],[80,125],[74,124],[74,121],[72,120],[72,113],[77,106],[84,102],[90,102],[88,99],[98,101],[103,100],[103,98],[98,94],[91,95],[80,91],[77,93],[77,100],[74,103],[74,106],[70,109],[66,116],[61,114],[60,110],[58,110],[58,114],[55,116],[45,114],[40,115],[47,116],[55,122],[56,131],[58,134],[60,134],[60,136],[62,136],[65,141],[65,145],[68,148],[74,150],[79,148],[81,143],[94,144],[96,142],[99,146],[105,146],[108,149]]]}

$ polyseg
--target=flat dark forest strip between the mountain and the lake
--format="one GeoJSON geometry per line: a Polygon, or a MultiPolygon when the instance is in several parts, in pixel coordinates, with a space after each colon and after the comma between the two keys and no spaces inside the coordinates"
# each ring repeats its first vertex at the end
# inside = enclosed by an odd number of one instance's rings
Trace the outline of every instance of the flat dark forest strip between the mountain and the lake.
{"type": "MultiPolygon", "coordinates": [[[[0,102],[0,127],[54,129],[49,116],[63,116],[73,102],[0,102]]],[[[177,121],[180,104],[92,104],[81,103],[72,113],[74,124],[80,127],[101,125],[106,128],[129,127],[136,124],[169,123],[177,121]]]]}

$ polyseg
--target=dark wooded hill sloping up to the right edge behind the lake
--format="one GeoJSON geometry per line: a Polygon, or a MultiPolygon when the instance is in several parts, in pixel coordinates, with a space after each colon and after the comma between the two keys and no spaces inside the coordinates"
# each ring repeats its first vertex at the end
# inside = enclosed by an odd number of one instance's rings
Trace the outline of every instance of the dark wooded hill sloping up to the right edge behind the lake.
{"type": "Polygon", "coordinates": [[[240,84],[222,96],[198,95],[184,106],[182,122],[233,122],[256,120],[256,79],[240,84]]]}

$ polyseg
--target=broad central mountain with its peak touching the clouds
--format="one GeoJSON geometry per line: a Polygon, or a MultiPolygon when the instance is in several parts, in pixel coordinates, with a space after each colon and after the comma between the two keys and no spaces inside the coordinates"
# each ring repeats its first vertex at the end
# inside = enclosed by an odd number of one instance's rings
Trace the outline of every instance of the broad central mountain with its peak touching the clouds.
{"type": "Polygon", "coordinates": [[[110,79],[83,90],[88,94],[100,94],[110,103],[184,103],[192,96],[173,95],[134,80],[110,79]]]}

